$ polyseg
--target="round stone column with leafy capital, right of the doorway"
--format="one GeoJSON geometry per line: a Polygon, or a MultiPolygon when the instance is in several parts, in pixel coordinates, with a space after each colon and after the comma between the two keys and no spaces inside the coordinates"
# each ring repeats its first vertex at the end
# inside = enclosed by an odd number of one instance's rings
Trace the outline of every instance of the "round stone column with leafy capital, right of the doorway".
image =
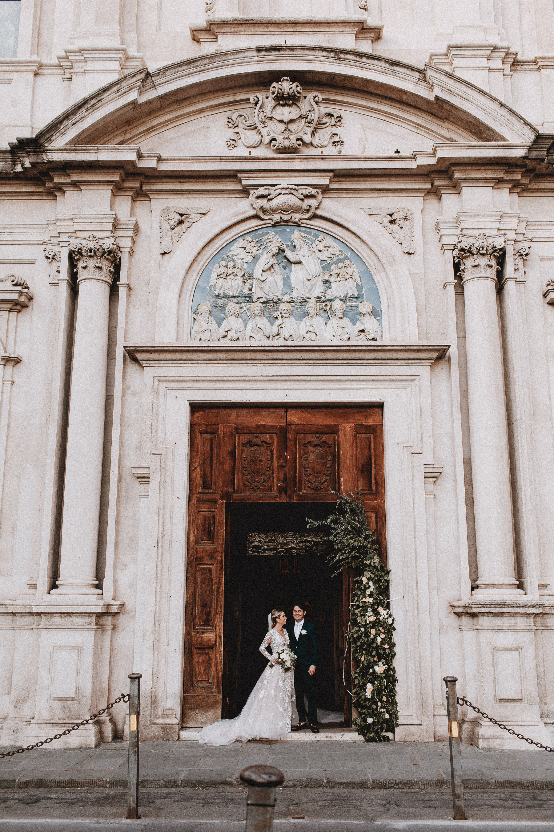
{"type": "Polygon", "coordinates": [[[478,589],[473,595],[522,595],[515,578],[512,493],[503,360],[497,310],[504,240],[458,239],[453,250],[465,300],[478,589]]]}

